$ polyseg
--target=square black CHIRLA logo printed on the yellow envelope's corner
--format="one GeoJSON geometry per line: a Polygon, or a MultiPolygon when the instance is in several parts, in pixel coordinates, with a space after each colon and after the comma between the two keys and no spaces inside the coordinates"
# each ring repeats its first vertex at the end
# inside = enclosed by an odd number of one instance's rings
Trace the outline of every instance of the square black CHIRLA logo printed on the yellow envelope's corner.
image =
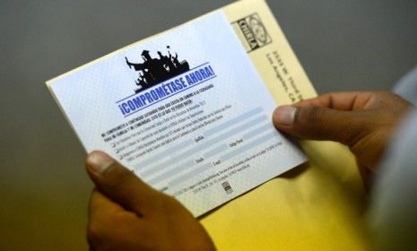
{"type": "Polygon", "coordinates": [[[257,48],[263,48],[272,42],[268,31],[266,31],[257,13],[232,22],[231,25],[238,32],[239,38],[247,52],[254,51],[257,48]]]}

